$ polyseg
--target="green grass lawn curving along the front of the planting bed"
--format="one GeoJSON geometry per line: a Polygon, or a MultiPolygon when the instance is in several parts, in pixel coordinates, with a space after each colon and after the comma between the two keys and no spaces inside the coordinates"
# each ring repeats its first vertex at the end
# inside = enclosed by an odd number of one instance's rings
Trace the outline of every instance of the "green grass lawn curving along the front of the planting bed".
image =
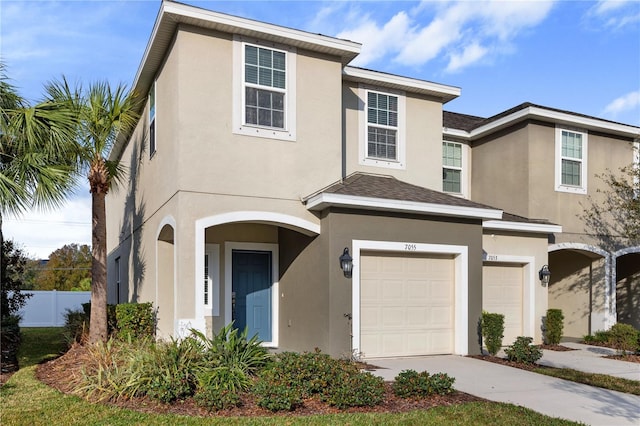
{"type": "Polygon", "coordinates": [[[145,414],[64,395],[35,378],[36,364],[64,348],[61,329],[25,328],[22,369],[0,388],[0,422],[9,425],[575,425],[511,404],[474,402],[400,414],[339,414],[310,417],[197,418],[145,414]]]}

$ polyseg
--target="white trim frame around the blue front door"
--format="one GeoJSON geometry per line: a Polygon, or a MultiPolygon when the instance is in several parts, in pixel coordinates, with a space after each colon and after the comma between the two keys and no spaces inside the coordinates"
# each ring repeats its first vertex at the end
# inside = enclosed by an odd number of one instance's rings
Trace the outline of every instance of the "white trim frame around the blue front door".
{"type": "MultiPolygon", "coordinates": [[[[278,244],[267,243],[237,243],[226,242],[224,244],[224,321],[225,324],[231,324],[231,292],[232,292],[232,261],[233,250],[257,250],[271,252],[271,341],[262,342],[262,346],[269,348],[277,348],[279,340],[279,322],[280,317],[280,299],[279,299],[279,276],[278,270],[278,244]]],[[[203,269],[204,270],[204,269],[203,269]]]]}

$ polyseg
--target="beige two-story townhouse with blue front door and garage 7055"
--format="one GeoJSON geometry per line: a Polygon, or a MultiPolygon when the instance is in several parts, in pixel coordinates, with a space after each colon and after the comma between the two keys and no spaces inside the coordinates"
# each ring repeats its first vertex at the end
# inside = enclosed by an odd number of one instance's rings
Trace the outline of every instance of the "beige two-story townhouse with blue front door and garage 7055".
{"type": "Polygon", "coordinates": [[[159,338],[233,322],[335,356],[478,353],[483,309],[541,340],[563,217],[491,198],[500,142],[443,113],[459,88],[352,67],[360,48],[162,2],[110,153],[110,302],[153,302],[159,338]]]}

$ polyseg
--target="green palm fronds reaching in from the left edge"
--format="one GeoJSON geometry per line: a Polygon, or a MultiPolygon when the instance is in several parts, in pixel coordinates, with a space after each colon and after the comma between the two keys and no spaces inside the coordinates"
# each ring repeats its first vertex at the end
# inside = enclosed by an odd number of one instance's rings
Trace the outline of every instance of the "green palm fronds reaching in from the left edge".
{"type": "Polygon", "coordinates": [[[64,103],[28,105],[4,71],[0,63],[0,260],[4,215],[58,207],[72,192],[77,125],[64,103]]]}

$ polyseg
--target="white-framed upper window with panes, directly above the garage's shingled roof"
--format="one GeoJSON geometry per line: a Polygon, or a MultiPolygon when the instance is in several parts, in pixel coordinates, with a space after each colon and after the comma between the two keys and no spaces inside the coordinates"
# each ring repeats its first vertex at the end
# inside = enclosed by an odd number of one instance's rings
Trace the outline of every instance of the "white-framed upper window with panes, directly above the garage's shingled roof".
{"type": "Polygon", "coordinates": [[[405,96],[361,87],[360,164],[405,168],[405,96]]]}

